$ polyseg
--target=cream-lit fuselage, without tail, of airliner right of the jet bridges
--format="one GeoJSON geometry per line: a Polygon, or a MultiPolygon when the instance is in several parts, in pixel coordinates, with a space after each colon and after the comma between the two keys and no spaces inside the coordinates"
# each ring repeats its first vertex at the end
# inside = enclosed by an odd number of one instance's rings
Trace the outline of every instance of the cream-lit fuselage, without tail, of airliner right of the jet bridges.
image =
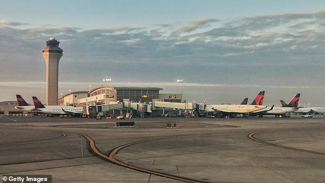
{"type": "Polygon", "coordinates": [[[207,105],[206,112],[220,111],[233,113],[250,113],[266,108],[264,105],[207,105]]]}

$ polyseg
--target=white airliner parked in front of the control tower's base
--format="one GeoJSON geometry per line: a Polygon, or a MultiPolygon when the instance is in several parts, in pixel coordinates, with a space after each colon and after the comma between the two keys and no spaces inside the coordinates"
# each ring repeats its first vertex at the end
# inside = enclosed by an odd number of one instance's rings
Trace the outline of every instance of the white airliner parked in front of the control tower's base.
{"type": "Polygon", "coordinates": [[[44,113],[47,115],[70,115],[74,117],[81,117],[83,115],[83,107],[73,107],[66,105],[48,105],[44,106],[36,97],[33,97],[34,111],[37,113],[44,113]]]}

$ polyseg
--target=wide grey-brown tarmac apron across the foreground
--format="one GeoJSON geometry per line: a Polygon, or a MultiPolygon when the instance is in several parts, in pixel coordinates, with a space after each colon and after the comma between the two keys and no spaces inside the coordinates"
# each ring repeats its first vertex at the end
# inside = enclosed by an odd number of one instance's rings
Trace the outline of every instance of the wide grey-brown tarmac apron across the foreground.
{"type": "Polygon", "coordinates": [[[1,175],[52,175],[52,182],[325,181],[323,116],[2,116],[0,128],[1,175]],[[115,126],[130,121],[135,125],[115,126]]]}

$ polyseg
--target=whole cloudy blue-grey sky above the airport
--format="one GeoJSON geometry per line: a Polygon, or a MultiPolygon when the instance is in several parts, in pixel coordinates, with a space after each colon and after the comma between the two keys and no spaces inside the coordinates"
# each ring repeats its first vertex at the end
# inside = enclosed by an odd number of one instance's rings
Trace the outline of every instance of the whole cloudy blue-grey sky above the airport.
{"type": "Polygon", "coordinates": [[[46,41],[58,93],[164,88],[187,102],[325,106],[325,1],[0,0],[0,101],[45,101],[46,41]],[[111,78],[103,83],[104,78],[111,78]],[[184,82],[177,83],[177,79],[184,82]],[[91,85],[91,87],[89,87],[91,85]]]}

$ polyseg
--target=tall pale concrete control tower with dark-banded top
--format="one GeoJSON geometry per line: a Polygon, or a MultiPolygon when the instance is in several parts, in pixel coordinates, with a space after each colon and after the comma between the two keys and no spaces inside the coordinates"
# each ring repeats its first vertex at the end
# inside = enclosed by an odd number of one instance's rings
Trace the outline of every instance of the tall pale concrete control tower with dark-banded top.
{"type": "Polygon", "coordinates": [[[63,50],[58,47],[60,42],[54,38],[46,41],[47,47],[43,49],[46,62],[46,105],[57,105],[58,91],[58,62],[63,50]]]}

